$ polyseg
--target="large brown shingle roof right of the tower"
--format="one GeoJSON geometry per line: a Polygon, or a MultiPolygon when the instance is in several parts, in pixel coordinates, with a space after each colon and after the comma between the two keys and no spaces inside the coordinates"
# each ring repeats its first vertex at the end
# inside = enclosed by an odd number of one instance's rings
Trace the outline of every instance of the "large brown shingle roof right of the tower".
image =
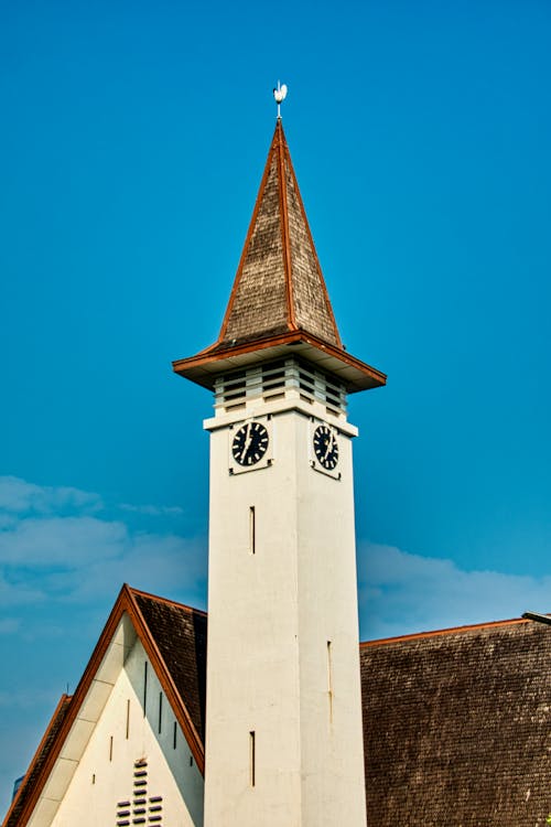
{"type": "Polygon", "coordinates": [[[543,827],[551,630],[514,621],[360,647],[368,827],[543,827]]]}

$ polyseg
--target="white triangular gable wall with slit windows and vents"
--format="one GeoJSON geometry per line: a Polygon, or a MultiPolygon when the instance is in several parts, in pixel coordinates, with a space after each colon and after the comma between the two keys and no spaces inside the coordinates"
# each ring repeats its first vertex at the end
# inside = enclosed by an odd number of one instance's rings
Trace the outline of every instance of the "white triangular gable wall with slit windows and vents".
{"type": "MultiPolygon", "coordinates": [[[[76,763],[57,812],[54,805],[55,790],[48,791],[48,786],[58,784],[63,776],[62,758],[46,784],[41,803],[29,823],[30,827],[74,827],[75,824],[79,827],[116,827],[125,823],[132,826],[138,823],[164,827],[176,824],[179,827],[202,825],[203,776],[177,723],[174,748],[174,724],[175,717],[166,696],[137,640],[119,672],[99,720],[91,724],[91,735],[76,763]],[[142,765],[136,766],[139,761],[143,762],[142,765]],[[136,772],[142,774],[136,777],[136,772]],[[147,783],[136,785],[136,782],[143,781],[147,783]],[[145,798],[147,803],[134,806],[137,797],[145,798]],[[150,802],[150,798],[159,797],[162,801],[150,802]],[[123,802],[129,802],[129,805],[122,806],[123,802]],[[155,809],[151,810],[151,807],[155,809]],[[134,812],[143,808],[144,814],[134,812]],[[128,815],[121,815],[122,813],[128,815]],[[161,820],[158,820],[159,817],[161,820]],[[137,818],[144,820],[136,821],[137,818]]],[[[67,742],[71,742],[71,738],[72,734],[67,742]]]]}

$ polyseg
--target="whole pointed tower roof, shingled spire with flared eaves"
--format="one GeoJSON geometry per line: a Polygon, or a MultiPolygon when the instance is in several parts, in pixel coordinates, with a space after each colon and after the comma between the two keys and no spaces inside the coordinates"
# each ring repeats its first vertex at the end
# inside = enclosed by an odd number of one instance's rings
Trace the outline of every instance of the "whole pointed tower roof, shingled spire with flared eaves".
{"type": "Polygon", "coordinates": [[[386,382],[343,347],[278,119],[219,336],[173,366],[212,388],[220,373],[278,358],[289,345],[336,374],[349,391],[386,382]]]}

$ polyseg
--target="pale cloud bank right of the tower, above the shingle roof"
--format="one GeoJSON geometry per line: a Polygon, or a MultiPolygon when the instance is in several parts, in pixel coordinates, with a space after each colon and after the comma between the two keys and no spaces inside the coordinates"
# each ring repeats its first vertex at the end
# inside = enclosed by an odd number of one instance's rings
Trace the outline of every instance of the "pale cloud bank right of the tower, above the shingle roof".
{"type": "Polygon", "coordinates": [[[452,560],[364,544],[358,549],[364,638],[519,617],[551,609],[551,577],[465,571],[452,560]]]}

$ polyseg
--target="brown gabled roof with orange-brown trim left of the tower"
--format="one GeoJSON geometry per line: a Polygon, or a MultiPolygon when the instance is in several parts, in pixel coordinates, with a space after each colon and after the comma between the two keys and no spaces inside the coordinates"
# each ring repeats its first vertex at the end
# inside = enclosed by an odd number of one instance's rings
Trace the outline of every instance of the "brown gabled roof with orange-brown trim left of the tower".
{"type": "MultiPolygon", "coordinates": [[[[80,716],[85,702],[96,686],[105,694],[106,687],[115,684],[136,637],[155,670],[197,767],[204,773],[206,621],[206,614],[197,609],[127,584],[122,587],[74,696],[63,696],[60,701],[3,827],[24,827],[56,762],[64,760],[72,732],[79,730],[82,735],[83,727],[87,727],[91,733],[95,722],[90,721],[89,708],[80,716]]],[[[108,694],[104,695],[104,705],[107,697],[108,694]]],[[[97,699],[94,706],[99,717],[102,706],[97,699]]],[[[80,737],[80,741],[85,748],[87,740],[80,737]]]]}

